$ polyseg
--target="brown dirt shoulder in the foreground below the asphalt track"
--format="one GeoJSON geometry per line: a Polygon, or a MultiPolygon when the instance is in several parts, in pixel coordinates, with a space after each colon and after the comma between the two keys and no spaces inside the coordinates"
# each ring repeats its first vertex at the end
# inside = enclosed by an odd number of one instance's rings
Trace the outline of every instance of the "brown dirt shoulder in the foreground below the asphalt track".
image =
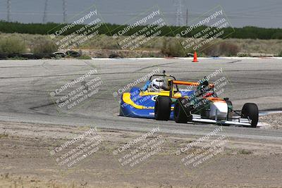
{"type": "Polygon", "coordinates": [[[281,187],[281,143],[224,137],[211,150],[219,137],[199,138],[0,122],[0,187],[281,187]],[[74,139],[92,150],[63,163],[74,139]]]}

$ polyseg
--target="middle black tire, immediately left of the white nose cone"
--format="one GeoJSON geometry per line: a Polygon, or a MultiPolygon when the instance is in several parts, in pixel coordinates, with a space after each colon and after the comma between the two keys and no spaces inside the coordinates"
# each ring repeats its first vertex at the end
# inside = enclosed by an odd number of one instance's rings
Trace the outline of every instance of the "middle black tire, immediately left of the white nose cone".
{"type": "Polygon", "coordinates": [[[192,114],[187,99],[178,99],[174,105],[173,116],[176,123],[192,121],[192,114]]]}

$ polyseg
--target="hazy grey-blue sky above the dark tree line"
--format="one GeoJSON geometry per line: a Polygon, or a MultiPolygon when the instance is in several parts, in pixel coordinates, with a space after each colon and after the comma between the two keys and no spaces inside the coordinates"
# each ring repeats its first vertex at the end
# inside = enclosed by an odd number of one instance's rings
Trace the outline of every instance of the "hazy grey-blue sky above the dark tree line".
{"type": "MultiPolygon", "coordinates": [[[[0,19],[6,20],[7,0],[0,0],[0,19]]],[[[13,21],[23,23],[41,23],[45,0],[11,0],[13,21]]],[[[164,13],[166,23],[176,24],[177,0],[66,0],[68,19],[85,11],[92,5],[102,15],[106,23],[127,23],[130,18],[145,12],[152,6],[159,6],[164,13]]],[[[281,0],[183,0],[183,23],[188,8],[188,23],[215,6],[221,5],[234,27],[246,25],[258,27],[282,27],[281,0]]],[[[47,21],[63,22],[62,0],[49,0],[47,21]]]]}

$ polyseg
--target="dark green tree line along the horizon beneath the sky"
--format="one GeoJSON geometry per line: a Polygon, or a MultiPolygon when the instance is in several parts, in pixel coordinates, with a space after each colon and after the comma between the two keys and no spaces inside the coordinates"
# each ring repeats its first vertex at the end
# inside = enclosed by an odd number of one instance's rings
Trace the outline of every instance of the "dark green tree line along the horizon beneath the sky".
{"type": "MultiPolygon", "coordinates": [[[[0,32],[4,33],[25,33],[25,34],[39,34],[39,35],[48,35],[55,32],[54,28],[63,27],[66,24],[59,23],[8,23],[5,21],[0,21],[0,32]]],[[[75,27],[67,30],[63,33],[63,35],[70,35],[75,30],[81,28],[82,25],[75,25],[75,27]]],[[[111,34],[115,33],[117,30],[121,30],[127,25],[115,25],[106,23],[99,27],[99,34],[104,34],[111,36],[111,34]],[[111,33],[110,33],[111,32],[111,33]]],[[[127,32],[126,35],[133,35],[133,33],[138,30],[142,30],[145,26],[138,26],[127,32]]],[[[206,26],[198,27],[192,32],[185,35],[185,37],[192,37],[197,32],[204,30],[206,26]]],[[[174,37],[172,31],[176,31],[179,29],[183,29],[183,27],[176,26],[164,26],[161,27],[161,34],[166,37],[174,37]]],[[[224,29],[225,33],[232,33],[228,36],[228,38],[236,38],[236,39],[282,39],[282,29],[279,28],[261,28],[261,27],[242,27],[242,28],[234,28],[235,32],[233,32],[233,28],[227,27],[224,29]]]]}

